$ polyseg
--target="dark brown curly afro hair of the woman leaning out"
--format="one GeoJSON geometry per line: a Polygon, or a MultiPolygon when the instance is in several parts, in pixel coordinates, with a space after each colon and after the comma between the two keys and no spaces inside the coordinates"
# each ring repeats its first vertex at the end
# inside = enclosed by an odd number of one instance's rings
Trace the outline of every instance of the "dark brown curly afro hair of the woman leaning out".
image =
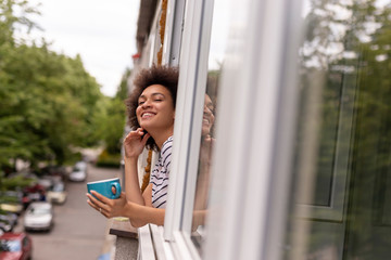
{"type": "MultiPolygon", "coordinates": [[[[137,129],[140,127],[137,116],[136,109],[138,107],[138,99],[141,95],[142,91],[152,84],[161,84],[165,87],[172,98],[173,105],[175,108],[176,105],[176,96],[177,96],[177,87],[178,87],[178,77],[179,70],[177,67],[168,67],[168,66],[156,66],[153,65],[150,68],[141,69],[134,80],[134,88],[129,98],[125,101],[127,107],[128,115],[128,125],[131,129],[137,129]]],[[[147,141],[147,148],[152,148],[157,151],[159,147],[151,136],[147,141]]]]}

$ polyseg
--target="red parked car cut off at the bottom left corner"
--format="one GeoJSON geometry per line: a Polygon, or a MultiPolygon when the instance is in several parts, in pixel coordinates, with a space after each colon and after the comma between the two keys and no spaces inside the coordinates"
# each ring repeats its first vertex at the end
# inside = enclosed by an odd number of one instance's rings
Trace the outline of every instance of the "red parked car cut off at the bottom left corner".
{"type": "Polygon", "coordinates": [[[0,259],[26,260],[33,257],[33,240],[26,233],[3,233],[0,236],[0,259]]]}

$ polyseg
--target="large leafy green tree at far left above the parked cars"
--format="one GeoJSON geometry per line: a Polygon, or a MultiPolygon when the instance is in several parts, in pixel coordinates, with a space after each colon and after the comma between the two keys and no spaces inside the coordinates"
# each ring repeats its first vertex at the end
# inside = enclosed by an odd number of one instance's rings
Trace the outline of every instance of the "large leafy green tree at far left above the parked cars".
{"type": "Polygon", "coordinates": [[[15,37],[16,27],[34,28],[33,13],[38,11],[27,1],[0,0],[2,168],[17,158],[33,166],[62,164],[72,147],[98,144],[106,122],[97,119],[110,108],[80,56],[58,54],[45,40],[27,44],[15,37]]]}

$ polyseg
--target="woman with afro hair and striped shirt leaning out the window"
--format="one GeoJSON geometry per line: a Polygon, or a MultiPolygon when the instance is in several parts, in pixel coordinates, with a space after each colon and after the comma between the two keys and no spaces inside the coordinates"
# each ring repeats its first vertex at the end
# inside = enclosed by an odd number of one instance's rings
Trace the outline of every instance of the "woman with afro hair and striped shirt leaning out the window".
{"type": "Polygon", "coordinates": [[[124,140],[125,193],[109,199],[97,192],[87,194],[88,204],[106,218],[128,217],[136,227],[147,223],[164,224],[171,154],[173,144],[178,70],[153,66],[140,72],[135,90],[127,100],[131,129],[124,140]],[[138,156],[144,147],[160,152],[150,183],[141,193],[137,172],[138,156]]]}

